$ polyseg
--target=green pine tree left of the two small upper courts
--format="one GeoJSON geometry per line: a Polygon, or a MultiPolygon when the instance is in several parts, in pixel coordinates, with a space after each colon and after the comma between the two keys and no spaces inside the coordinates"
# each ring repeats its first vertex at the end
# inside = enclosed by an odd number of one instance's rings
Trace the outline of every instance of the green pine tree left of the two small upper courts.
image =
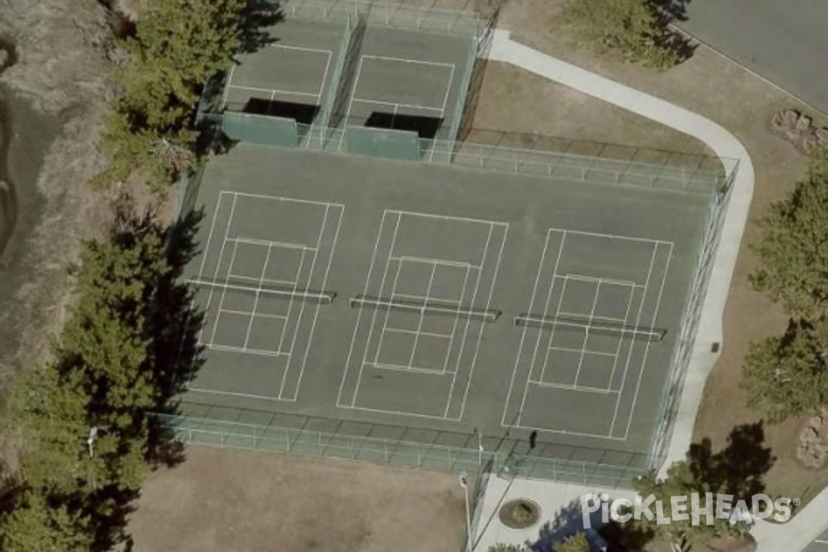
{"type": "Polygon", "coordinates": [[[118,98],[101,144],[112,185],[141,170],[165,185],[195,163],[195,108],[205,82],[242,46],[244,0],[149,0],[128,63],[113,72],[118,98]]]}

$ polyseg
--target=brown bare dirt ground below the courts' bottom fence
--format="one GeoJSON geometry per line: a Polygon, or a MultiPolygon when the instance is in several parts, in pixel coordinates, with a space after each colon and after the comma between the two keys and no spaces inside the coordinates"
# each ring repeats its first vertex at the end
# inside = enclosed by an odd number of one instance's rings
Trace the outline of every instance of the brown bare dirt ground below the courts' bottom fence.
{"type": "Polygon", "coordinates": [[[129,531],[134,552],[460,550],[455,475],[191,446],[152,474],[129,531]]]}

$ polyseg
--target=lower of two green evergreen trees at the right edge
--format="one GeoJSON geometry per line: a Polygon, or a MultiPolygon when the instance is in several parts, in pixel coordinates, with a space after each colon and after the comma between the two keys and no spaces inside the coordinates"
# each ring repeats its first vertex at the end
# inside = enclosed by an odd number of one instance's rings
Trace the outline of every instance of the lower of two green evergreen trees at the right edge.
{"type": "Polygon", "coordinates": [[[741,386],[771,423],[828,405],[828,322],[792,321],[781,336],[750,344],[741,386]]]}

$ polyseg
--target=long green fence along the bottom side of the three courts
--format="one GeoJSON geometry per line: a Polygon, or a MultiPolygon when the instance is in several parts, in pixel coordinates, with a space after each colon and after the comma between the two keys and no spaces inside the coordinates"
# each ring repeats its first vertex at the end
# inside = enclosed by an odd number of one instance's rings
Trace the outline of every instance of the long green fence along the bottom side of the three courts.
{"type": "Polygon", "coordinates": [[[481,441],[474,434],[374,425],[257,410],[204,407],[198,415],[155,414],[185,443],[386,463],[447,472],[478,473],[493,463],[509,477],[630,487],[651,463],[644,454],[537,444],[516,439],[481,441]],[[213,409],[216,410],[213,410],[213,409]],[[238,419],[259,420],[238,421],[238,419]],[[301,419],[297,424],[296,420],[301,419]],[[235,420],[235,421],[234,421],[235,420]],[[281,422],[279,420],[282,420],[281,422]],[[325,430],[320,429],[325,428],[325,430]],[[516,453],[516,450],[526,449],[516,453]],[[593,461],[585,457],[594,458],[593,461]],[[622,462],[615,465],[614,460],[622,462]]]}

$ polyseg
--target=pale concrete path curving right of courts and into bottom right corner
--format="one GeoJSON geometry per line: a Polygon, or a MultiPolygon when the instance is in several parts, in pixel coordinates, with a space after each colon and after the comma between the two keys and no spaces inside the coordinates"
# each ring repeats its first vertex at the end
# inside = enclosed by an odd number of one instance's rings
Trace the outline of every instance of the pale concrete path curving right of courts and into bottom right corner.
{"type": "MultiPolygon", "coordinates": [[[[565,84],[571,89],[638,113],[698,138],[723,159],[739,161],[739,172],[734,180],[734,189],[724,218],[721,242],[710,276],[710,287],[705,296],[691,366],[681,394],[676,427],[672,434],[667,461],[664,463],[665,468],[662,468],[663,474],[671,463],[683,460],[690,448],[693,425],[696,423],[696,413],[699,410],[705,381],[719,358],[719,353],[711,353],[711,347],[713,343],[721,343],[723,338],[724,305],[727,302],[736,257],[739,255],[739,245],[748,221],[750,200],[753,197],[753,163],[748,151],[733,134],[710,119],[522,46],[509,38],[508,31],[494,32],[489,59],[516,65],[546,79],[565,84]]],[[[787,524],[777,525],[758,521],[752,531],[758,541],[758,551],[802,550],[824,529],[826,511],[828,490],[822,492],[787,524]]]]}

